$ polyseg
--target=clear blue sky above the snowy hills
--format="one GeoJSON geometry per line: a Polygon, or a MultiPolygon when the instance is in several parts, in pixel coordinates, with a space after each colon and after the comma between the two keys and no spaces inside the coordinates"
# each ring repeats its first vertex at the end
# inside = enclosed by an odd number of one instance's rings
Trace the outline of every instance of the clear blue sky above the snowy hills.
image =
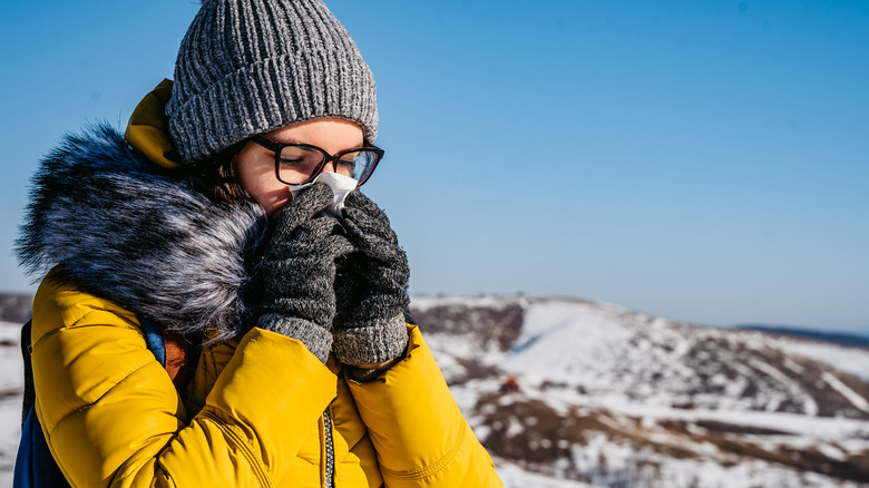
{"type": "MultiPolygon", "coordinates": [[[[869,333],[869,2],[329,1],[378,82],[367,185],[414,294],[869,333]]],[[[0,16],[0,290],[36,162],[126,123],[192,0],[0,16]]]]}

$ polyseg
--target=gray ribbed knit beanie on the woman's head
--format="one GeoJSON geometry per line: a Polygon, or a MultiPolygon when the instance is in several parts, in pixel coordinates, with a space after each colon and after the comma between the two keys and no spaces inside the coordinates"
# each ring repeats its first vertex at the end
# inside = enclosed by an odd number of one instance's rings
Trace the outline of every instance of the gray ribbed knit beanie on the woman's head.
{"type": "Polygon", "coordinates": [[[178,50],[166,105],[185,164],[318,117],[378,131],[374,78],[320,0],[206,0],[178,50]]]}

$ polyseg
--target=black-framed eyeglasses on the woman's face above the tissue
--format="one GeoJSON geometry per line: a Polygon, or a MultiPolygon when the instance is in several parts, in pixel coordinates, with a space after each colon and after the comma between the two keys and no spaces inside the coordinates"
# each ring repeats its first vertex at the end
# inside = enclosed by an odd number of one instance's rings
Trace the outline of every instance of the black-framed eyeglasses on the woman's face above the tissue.
{"type": "Polygon", "coordinates": [[[383,149],[374,146],[354,147],[330,155],[310,144],[275,143],[262,136],[251,140],[274,153],[274,172],[285,185],[304,185],[312,182],[326,164],[334,164],[335,173],[359,182],[359,186],[371,177],[383,158],[383,149]]]}

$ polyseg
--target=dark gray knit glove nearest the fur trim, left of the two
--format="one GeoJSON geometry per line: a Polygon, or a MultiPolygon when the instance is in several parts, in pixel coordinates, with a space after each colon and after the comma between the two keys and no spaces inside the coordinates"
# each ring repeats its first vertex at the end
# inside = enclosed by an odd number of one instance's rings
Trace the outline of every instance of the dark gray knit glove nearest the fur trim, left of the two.
{"type": "Polygon", "coordinates": [[[326,362],[335,315],[335,258],[354,250],[332,216],[318,216],[332,191],[318,184],[293,199],[275,222],[256,272],[257,326],[297,339],[326,362]]]}

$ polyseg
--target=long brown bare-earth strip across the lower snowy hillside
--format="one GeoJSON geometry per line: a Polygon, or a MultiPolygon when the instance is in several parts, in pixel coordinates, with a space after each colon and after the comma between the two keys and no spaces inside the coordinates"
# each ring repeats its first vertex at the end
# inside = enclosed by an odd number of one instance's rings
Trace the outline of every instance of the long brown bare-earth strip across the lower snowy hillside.
{"type": "Polygon", "coordinates": [[[789,446],[791,435],[778,429],[712,420],[650,422],[587,407],[556,409],[521,393],[481,396],[473,414],[485,419],[487,428],[480,440],[494,455],[546,472],[559,467],[560,476],[583,481],[615,472],[601,449],[602,436],[607,443],[633,452],[618,467],[622,476],[650,476],[658,470],[663,457],[702,459],[714,455],[724,466],[760,459],[799,471],[869,481],[869,451],[836,459],[812,446],[789,446]],[[578,453],[589,450],[601,457],[593,468],[578,459],[578,453]]]}

